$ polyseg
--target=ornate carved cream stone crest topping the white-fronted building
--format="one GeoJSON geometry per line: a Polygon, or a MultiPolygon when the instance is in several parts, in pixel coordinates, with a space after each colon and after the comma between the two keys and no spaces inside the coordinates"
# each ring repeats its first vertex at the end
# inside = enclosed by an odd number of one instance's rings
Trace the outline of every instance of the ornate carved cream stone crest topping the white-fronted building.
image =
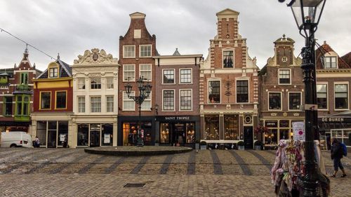
{"type": "Polygon", "coordinates": [[[112,54],[108,54],[105,50],[93,48],[84,51],[84,55],[78,55],[78,60],[74,60],[74,64],[111,64],[118,63],[117,58],[113,58],[112,54]]]}

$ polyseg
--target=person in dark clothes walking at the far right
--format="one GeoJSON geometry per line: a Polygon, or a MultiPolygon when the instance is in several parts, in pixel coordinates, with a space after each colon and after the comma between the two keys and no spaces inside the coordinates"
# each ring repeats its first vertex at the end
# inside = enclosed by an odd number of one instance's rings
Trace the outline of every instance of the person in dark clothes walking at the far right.
{"type": "Polygon", "coordinates": [[[343,175],[341,175],[341,177],[346,177],[343,164],[341,164],[341,161],[340,161],[341,158],[343,158],[343,147],[341,147],[340,142],[336,138],[333,138],[330,151],[331,151],[331,159],[333,159],[333,163],[334,163],[334,172],[333,172],[333,175],[331,175],[331,177],[336,177],[338,168],[340,168],[340,170],[343,172],[343,175]]]}

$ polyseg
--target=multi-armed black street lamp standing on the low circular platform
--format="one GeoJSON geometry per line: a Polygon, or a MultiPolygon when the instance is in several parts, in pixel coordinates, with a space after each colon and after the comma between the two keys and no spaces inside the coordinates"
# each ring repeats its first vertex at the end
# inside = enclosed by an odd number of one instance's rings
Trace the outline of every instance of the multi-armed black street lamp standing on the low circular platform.
{"type": "Polygon", "coordinates": [[[134,100],[136,102],[136,104],[139,105],[139,118],[138,118],[138,147],[143,147],[144,146],[144,140],[143,137],[141,136],[141,124],[140,124],[140,118],[141,118],[141,104],[143,104],[144,100],[147,99],[147,97],[149,97],[150,92],[151,92],[151,84],[150,83],[146,83],[144,84],[144,81],[147,79],[144,79],[144,77],[139,77],[139,79],[136,81],[137,85],[138,85],[138,89],[139,89],[139,95],[138,96],[131,96],[131,90],[132,90],[132,86],[131,83],[127,83],[124,88],[126,88],[126,94],[128,96],[128,98],[134,100]]]}

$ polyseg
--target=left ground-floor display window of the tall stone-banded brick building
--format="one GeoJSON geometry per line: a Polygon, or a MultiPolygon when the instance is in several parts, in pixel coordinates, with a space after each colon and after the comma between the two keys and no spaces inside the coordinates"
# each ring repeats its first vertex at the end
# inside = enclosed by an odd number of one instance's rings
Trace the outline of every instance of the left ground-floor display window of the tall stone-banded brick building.
{"type": "Polygon", "coordinates": [[[218,115],[205,116],[205,140],[219,140],[219,117],[218,115]]]}

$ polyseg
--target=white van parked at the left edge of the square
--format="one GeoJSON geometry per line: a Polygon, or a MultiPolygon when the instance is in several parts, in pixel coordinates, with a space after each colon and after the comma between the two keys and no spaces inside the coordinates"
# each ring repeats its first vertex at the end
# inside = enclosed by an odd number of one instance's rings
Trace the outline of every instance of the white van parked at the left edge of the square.
{"type": "Polygon", "coordinates": [[[32,147],[32,137],[23,131],[1,132],[1,147],[32,147]]]}

